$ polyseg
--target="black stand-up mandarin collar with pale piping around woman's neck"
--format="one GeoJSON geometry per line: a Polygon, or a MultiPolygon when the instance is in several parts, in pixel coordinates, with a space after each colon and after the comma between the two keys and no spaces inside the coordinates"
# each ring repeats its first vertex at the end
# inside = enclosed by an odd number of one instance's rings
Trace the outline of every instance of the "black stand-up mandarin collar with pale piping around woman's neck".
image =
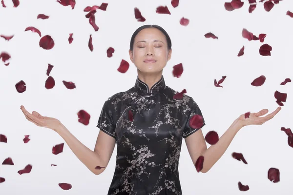
{"type": "Polygon", "coordinates": [[[163,75],[161,79],[158,82],[156,82],[150,89],[148,88],[145,82],[143,82],[141,79],[138,78],[138,76],[136,78],[135,85],[134,85],[135,89],[144,95],[158,94],[161,90],[165,88],[165,86],[166,85],[165,85],[165,80],[163,75]]]}

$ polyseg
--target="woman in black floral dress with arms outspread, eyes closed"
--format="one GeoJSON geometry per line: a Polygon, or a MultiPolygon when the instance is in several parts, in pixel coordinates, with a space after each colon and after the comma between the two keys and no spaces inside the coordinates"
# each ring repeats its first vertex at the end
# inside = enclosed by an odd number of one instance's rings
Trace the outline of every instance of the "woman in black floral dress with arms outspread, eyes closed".
{"type": "Polygon", "coordinates": [[[29,121],[62,136],[96,175],[105,170],[116,142],[116,169],[108,195],[181,195],[178,162],[183,137],[193,164],[199,156],[204,156],[201,172],[206,173],[242,127],[263,124],[281,107],[266,117],[260,116],[267,114],[267,109],[251,113],[248,118],[241,115],[219,141],[207,149],[201,130],[205,121],[198,105],[185,94],[183,98],[174,99],[177,92],[165,85],[162,72],[171,52],[171,40],[162,27],[144,25],[134,32],[129,56],[137,67],[138,77],[134,87],[105,101],[94,151],[84,146],[58,119],[43,117],[35,111],[30,114],[23,106],[21,110],[29,121]],[[193,115],[203,119],[199,128],[189,125],[193,115]]]}

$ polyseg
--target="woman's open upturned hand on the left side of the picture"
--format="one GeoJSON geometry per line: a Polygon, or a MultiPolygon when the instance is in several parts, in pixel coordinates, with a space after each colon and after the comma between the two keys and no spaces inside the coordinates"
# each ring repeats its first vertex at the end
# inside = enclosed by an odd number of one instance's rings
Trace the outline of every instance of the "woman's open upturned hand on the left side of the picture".
{"type": "Polygon", "coordinates": [[[52,117],[43,117],[36,111],[33,111],[32,114],[30,114],[22,105],[21,111],[27,120],[31,121],[39,127],[46,127],[57,132],[57,129],[61,126],[60,120],[52,117]]]}

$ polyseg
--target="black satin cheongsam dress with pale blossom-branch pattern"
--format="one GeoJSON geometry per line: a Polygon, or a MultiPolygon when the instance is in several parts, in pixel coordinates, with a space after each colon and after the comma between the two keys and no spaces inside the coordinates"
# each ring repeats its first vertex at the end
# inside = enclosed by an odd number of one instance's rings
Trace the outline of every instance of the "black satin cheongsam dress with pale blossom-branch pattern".
{"type": "Polygon", "coordinates": [[[200,129],[191,128],[189,119],[202,113],[185,94],[173,99],[176,93],[163,76],[151,89],[137,77],[134,87],[105,101],[97,127],[117,143],[108,195],[182,195],[178,173],[182,137],[200,129]]]}

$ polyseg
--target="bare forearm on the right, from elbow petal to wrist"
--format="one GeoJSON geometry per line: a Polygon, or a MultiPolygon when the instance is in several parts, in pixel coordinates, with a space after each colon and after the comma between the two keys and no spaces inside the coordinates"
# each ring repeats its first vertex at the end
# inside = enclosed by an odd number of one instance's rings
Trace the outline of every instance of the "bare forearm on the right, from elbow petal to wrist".
{"type": "Polygon", "coordinates": [[[229,147],[231,141],[241,129],[241,126],[234,120],[227,131],[219,138],[219,141],[206,149],[201,156],[204,156],[202,173],[206,173],[220,159],[229,147]]]}

